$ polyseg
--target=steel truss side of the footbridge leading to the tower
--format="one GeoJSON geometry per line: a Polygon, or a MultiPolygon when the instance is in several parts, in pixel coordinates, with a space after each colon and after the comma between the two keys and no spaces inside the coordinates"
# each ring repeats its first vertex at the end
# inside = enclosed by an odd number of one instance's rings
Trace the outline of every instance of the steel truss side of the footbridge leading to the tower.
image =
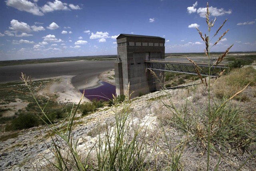
{"type": "MultiPolygon", "coordinates": [[[[175,73],[186,73],[186,74],[194,74],[196,73],[196,66],[192,63],[177,63],[177,62],[170,62],[170,61],[146,61],[147,69],[151,70],[160,70],[160,71],[170,71],[175,73]]],[[[199,72],[202,76],[208,76],[209,67],[207,64],[198,64],[200,67],[199,72]]],[[[210,68],[210,76],[214,77],[219,75],[224,69],[228,67],[224,66],[212,66],[210,68]]]]}

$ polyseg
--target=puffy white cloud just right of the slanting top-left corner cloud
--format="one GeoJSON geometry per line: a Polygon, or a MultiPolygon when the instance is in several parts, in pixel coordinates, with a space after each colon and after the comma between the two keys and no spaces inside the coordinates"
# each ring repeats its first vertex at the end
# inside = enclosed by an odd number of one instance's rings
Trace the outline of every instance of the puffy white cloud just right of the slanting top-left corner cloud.
{"type": "Polygon", "coordinates": [[[67,7],[68,4],[62,3],[59,0],[55,0],[54,2],[47,2],[41,9],[42,12],[52,12],[55,10],[69,10],[67,7]]]}

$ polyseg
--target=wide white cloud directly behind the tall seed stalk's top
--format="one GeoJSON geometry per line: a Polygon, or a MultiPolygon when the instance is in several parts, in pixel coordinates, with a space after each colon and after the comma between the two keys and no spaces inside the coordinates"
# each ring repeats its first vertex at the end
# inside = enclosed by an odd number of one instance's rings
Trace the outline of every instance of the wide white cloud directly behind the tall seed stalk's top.
{"type": "MultiPolygon", "coordinates": [[[[206,16],[205,16],[206,10],[207,10],[207,8],[198,8],[197,13],[200,15],[200,17],[206,18],[206,16]]],[[[214,17],[223,16],[225,14],[232,13],[232,10],[226,11],[223,8],[218,9],[218,8],[212,7],[212,6],[209,7],[209,11],[210,11],[210,15],[212,15],[214,17]]]]}

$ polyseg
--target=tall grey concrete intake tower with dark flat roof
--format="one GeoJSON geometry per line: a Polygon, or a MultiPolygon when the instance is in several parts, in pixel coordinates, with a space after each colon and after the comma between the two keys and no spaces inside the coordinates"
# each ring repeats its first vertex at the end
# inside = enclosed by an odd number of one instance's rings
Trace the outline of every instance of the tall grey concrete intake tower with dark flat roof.
{"type": "MultiPolygon", "coordinates": [[[[130,83],[131,97],[160,90],[162,87],[152,73],[146,69],[147,60],[164,59],[162,37],[120,34],[117,38],[118,58],[115,62],[116,94],[125,94],[130,83]]],[[[160,77],[161,71],[155,71],[160,77]]],[[[161,79],[162,83],[164,79],[161,79]]]]}

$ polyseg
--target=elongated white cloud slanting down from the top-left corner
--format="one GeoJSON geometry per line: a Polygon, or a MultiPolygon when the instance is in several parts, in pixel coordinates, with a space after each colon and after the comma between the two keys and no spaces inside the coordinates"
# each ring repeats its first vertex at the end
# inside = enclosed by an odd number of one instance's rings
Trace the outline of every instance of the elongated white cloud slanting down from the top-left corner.
{"type": "MultiPolygon", "coordinates": [[[[36,3],[32,3],[28,0],[6,0],[6,5],[16,8],[20,11],[26,11],[37,16],[43,16],[44,14],[40,11],[40,8],[36,3]]],[[[36,1],[34,1],[36,2],[36,1]]]]}

